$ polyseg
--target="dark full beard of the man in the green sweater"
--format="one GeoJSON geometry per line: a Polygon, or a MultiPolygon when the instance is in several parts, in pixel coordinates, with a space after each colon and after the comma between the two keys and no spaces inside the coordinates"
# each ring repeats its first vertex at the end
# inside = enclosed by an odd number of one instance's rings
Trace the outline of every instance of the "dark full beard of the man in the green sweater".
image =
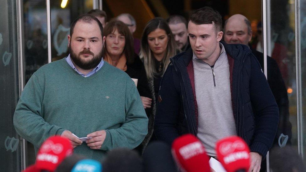
{"type": "MultiPolygon", "coordinates": [[[[98,53],[98,55],[94,55],[93,52],[91,52],[90,50],[86,49],[81,51],[78,55],[76,53],[74,53],[74,51],[71,49],[71,45],[69,46],[69,52],[70,52],[70,57],[71,60],[80,68],[84,69],[84,70],[89,70],[89,69],[93,69],[95,67],[98,66],[98,64],[101,62],[102,60],[102,50],[98,53]],[[93,56],[92,60],[89,61],[83,61],[81,59],[81,55],[82,54],[90,54],[93,56]]],[[[89,58],[89,57],[87,57],[89,58]]]]}

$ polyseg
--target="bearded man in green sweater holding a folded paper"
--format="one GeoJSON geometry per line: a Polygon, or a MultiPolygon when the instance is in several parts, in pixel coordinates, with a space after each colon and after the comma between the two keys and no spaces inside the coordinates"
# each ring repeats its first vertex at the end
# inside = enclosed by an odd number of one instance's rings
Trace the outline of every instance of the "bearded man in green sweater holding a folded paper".
{"type": "Polygon", "coordinates": [[[105,36],[97,18],[78,17],[68,36],[68,57],[37,70],[14,113],[17,133],[35,152],[52,135],[68,138],[77,154],[100,160],[106,151],[134,149],[148,118],[134,81],[102,59],[105,36]],[[92,137],[82,142],[77,137],[92,137]]]}

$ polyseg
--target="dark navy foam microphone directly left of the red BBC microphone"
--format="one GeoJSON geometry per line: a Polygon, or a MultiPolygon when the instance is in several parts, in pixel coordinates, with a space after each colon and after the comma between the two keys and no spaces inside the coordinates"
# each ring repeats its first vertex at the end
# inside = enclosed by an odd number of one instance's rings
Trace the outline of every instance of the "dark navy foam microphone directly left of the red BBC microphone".
{"type": "Polygon", "coordinates": [[[145,172],[177,172],[171,146],[162,141],[150,143],[142,155],[145,172]]]}

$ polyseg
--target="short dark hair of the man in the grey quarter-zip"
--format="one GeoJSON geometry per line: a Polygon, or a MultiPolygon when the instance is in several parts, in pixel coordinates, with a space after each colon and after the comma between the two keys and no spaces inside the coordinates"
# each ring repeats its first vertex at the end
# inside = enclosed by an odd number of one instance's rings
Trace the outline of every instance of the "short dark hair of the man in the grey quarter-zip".
{"type": "Polygon", "coordinates": [[[203,7],[191,14],[189,21],[195,24],[214,24],[216,31],[221,31],[222,17],[211,7],[203,7]]]}

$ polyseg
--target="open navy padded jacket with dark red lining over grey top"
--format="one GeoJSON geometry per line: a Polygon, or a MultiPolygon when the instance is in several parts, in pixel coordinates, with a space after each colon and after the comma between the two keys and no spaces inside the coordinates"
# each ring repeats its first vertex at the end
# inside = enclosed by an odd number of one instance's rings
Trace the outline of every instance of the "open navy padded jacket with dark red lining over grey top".
{"type": "MultiPolygon", "coordinates": [[[[237,135],[251,152],[266,156],[279,121],[278,107],[260,64],[242,44],[226,44],[237,135]]],[[[171,144],[184,133],[197,135],[198,112],[191,48],[173,58],[161,81],[154,130],[171,144]]],[[[218,126],[212,126],[218,127],[218,126]]]]}

